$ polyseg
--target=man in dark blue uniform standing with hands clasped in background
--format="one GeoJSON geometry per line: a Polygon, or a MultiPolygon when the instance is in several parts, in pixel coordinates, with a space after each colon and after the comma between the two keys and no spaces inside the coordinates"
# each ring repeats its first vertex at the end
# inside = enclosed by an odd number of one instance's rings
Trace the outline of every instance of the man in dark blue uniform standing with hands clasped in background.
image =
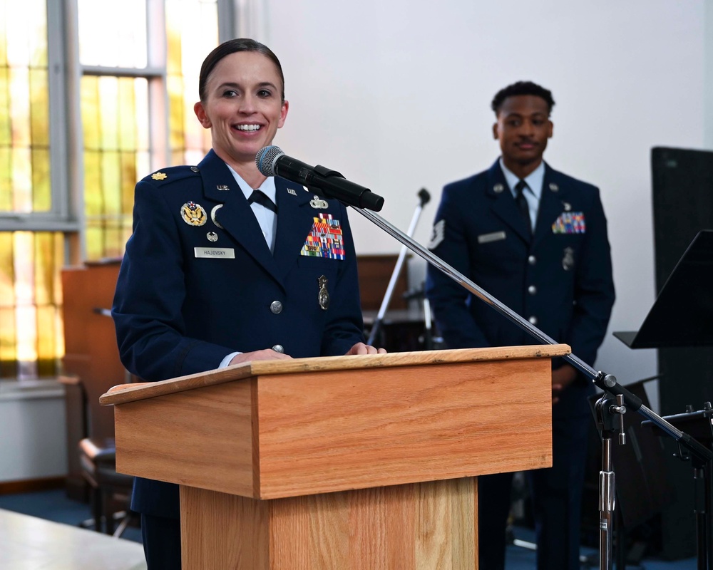
{"type": "MultiPolygon", "coordinates": [[[[599,190],[543,162],[552,137],[549,90],[518,82],[497,93],[490,169],[443,189],[429,249],[592,365],[607,331],[614,285],[599,190]]],[[[426,279],[449,348],[533,344],[533,338],[438,269],[426,279]]],[[[553,467],[528,472],[538,569],[579,565],[581,493],[593,385],[553,362],[553,467]]],[[[505,566],[512,474],[481,477],[480,567],[505,566]]]]}

